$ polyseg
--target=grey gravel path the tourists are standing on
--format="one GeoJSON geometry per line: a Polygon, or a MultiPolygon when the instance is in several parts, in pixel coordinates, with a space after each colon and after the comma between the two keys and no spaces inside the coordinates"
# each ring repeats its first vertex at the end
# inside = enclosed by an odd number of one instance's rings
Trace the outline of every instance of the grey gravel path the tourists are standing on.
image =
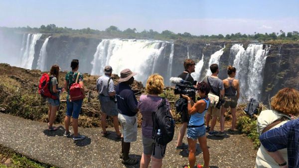
{"type": "MultiPolygon", "coordinates": [[[[121,142],[115,140],[113,128],[108,137],[101,137],[100,128],[79,128],[87,138],[73,141],[63,137],[64,127],[47,131],[47,123],[41,123],[0,113],[0,144],[42,163],[62,168],[139,168],[139,164],[125,166],[119,159],[121,142]]],[[[179,126],[178,126],[179,127],[179,126]]],[[[226,126],[227,127],[227,126],[226,126]]],[[[216,126],[215,130],[219,130],[216,126]]],[[[227,130],[227,128],[226,128],[227,130]]],[[[167,145],[163,168],[182,168],[188,164],[187,150],[175,150],[178,129],[174,140],[167,145]]],[[[186,138],[184,142],[187,143],[186,138]]],[[[257,151],[243,134],[209,137],[210,166],[212,168],[253,168],[257,151]]],[[[131,144],[131,157],[141,159],[143,153],[141,129],[138,140],[131,144]]],[[[202,152],[197,147],[196,162],[202,164],[202,152]]]]}

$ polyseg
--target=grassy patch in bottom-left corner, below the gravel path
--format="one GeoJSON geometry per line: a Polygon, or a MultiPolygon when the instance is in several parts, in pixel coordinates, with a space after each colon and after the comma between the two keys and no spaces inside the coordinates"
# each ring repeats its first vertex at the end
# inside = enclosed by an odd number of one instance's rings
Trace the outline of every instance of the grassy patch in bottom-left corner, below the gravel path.
{"type": "Polygon", "coordinates": [[[0,168],[55,168],[14,153],[0,145],[0,168]],[[5,161],[8,163],[5,164],[5,161]]]}

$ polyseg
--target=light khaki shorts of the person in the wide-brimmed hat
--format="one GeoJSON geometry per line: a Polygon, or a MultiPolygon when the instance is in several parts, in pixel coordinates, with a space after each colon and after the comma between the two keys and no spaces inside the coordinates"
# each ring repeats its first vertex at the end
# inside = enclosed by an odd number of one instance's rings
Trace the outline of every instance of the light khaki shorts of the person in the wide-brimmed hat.
{"type": "Polygon", "coordinates": [[[118,114],[118,119],[123,129],[124,142],[135,142],[137,140],[137,117],[118,114]]]}

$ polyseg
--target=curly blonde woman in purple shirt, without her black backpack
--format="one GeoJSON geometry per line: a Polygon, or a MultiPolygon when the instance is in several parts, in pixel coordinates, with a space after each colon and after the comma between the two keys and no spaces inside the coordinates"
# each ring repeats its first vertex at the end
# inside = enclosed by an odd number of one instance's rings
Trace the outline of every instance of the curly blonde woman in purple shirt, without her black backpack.
{"type": "MultiPolygon", "coordinates": [[[[151,167],[152,168],[161,168],[162,159],[164,157],[166,146],[158,145],[152,139],[152,113],[157,109],[158,105],[162,102],[162,97],[158,94],[161,94],[164,89],[163,77],[158,74],[153,74],[149,76],[147,81],[146,92],[140,96],[138,103],[138,108],[142,114],[142,142],[144,152],[140,161],[140,168],[148,168],[151,158],[151,167]],[[153,153],[153,148],[155,152],[153,153]]],[[[168,108],[169,102],[166,100],[168,108]]]]}

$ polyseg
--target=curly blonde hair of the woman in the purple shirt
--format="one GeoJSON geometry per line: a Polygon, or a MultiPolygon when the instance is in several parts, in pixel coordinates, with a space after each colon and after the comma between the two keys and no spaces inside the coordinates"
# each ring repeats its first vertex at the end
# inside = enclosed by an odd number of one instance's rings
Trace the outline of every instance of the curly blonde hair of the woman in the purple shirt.
{"type": "Polygon", "coordinates": [[[163,77],[159,74],[152,74],[147,81],[146,91],[149,94],[161,94],[164,89],[163,77]]]}

